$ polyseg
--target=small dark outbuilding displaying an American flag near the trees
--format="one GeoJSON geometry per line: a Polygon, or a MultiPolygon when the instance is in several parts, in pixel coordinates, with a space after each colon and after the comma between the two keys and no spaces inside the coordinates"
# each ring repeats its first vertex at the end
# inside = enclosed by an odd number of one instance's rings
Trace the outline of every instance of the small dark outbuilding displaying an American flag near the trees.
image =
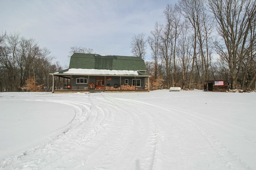
{"type": "Polygon", "coordinates": [[[204,91],[226,92],[230,90],[230,80],[207,80],[204,83],[204,91]]]}

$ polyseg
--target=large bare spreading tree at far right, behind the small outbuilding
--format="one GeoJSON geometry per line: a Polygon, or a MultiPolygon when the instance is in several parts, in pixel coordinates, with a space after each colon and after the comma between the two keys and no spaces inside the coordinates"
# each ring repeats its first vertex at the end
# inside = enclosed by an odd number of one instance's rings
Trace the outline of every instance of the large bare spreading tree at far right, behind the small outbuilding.
{"type": "Polygon", "coordinates": [[[234,89],[241,75],[242,64],[255,44],[255,31],[250,30],[255,29],[256,1],[208,0],[208,6],[214,14],[218,34],[222,38],[217,50],[221,59],[228,63],[231,88],[234,89]]]}

